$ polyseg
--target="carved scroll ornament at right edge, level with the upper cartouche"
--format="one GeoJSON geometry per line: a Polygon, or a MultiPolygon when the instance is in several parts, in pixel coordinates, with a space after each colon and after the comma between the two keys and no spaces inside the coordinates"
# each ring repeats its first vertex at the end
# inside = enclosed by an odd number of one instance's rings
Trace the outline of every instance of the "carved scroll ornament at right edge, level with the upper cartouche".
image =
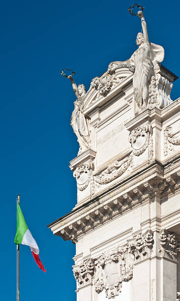
{"type": "Polygon", "coordinates": [[[165,156],[168,155],[169,151],[173,151],[174,145],[180,145],[180,130],[173,133],[172,127],[167,126],[164,130],[164,155],[165,156]]]}

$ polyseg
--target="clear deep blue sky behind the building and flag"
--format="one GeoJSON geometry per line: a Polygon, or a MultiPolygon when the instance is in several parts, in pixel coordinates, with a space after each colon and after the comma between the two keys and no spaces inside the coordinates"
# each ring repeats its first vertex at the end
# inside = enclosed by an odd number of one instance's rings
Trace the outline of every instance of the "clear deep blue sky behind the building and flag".
{"type": "MultiPolygon", "coordinates": [[[[40,248],[47,272],[21,246],[21,300],[75,301],[75,245],[53,236],[47,224],[76,204],[68,164],[78,144],[70,126],[75,94],[61,68],[85,84],[126,60],[141,31],[128,1],[1,1],[1,300],[16,299],[16,196],[40,248]]],[[[143,1],[150,41],[165,49],[163,65],[180,76],[179,1],[143,1]],[[178,9],[176,9],[176,7],[178,9]]],[[[180,80],[172,99],[180,96],[180,80]]]]}

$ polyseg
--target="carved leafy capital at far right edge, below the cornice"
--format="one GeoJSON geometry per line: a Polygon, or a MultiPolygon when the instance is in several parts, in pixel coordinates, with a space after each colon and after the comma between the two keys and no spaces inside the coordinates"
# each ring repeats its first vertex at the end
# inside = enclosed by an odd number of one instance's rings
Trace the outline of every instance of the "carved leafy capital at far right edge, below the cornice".
{"type": "Polygon", "coordinates": [[[175,233],[169,233],[166,229],[160,232],[159,236],[162,256],[177,261],[177,253],[180,252],[180,245],[177,243],[175,233]]]}

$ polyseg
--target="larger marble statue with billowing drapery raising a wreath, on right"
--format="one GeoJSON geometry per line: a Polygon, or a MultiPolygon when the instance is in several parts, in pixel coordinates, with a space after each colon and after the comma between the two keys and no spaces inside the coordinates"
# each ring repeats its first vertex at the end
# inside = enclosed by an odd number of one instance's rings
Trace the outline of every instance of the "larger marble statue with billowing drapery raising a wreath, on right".
{"type": "Polygon", "coordinates": [[[164,59],[164,49],[162,46],[150,43],[147,24],[142,11],[138,11],[138,17],[141,18],[143,33],[139,32],[136,38],[136,44],[139,47],[126,61],[114,61],[109,64],[108,70],[113,65],[123,67],[124,64],[135,66],[133,76],[135,114],[148,106],[149,85],[151,76],[154,75],[154,69],[158,62],[164,59]]]}

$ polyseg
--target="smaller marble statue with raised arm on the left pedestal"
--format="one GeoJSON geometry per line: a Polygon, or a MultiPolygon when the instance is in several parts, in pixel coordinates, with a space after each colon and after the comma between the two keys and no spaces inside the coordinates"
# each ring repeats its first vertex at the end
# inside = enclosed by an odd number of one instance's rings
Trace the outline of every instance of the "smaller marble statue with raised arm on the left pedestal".
{"type": "Polygon", "coordinates": [[[72,75],[67,77],[71,83],[72,88],[76,94],[77,100],[74,102],[74,111],[71,116],[71,125],[78,138],[80,149],[78,155],[90,148],[90,125],[88,119],[83,113],[84,97],[86,95],[86,87],[80,84],[78,87],[73,80],[72,75]]]}

